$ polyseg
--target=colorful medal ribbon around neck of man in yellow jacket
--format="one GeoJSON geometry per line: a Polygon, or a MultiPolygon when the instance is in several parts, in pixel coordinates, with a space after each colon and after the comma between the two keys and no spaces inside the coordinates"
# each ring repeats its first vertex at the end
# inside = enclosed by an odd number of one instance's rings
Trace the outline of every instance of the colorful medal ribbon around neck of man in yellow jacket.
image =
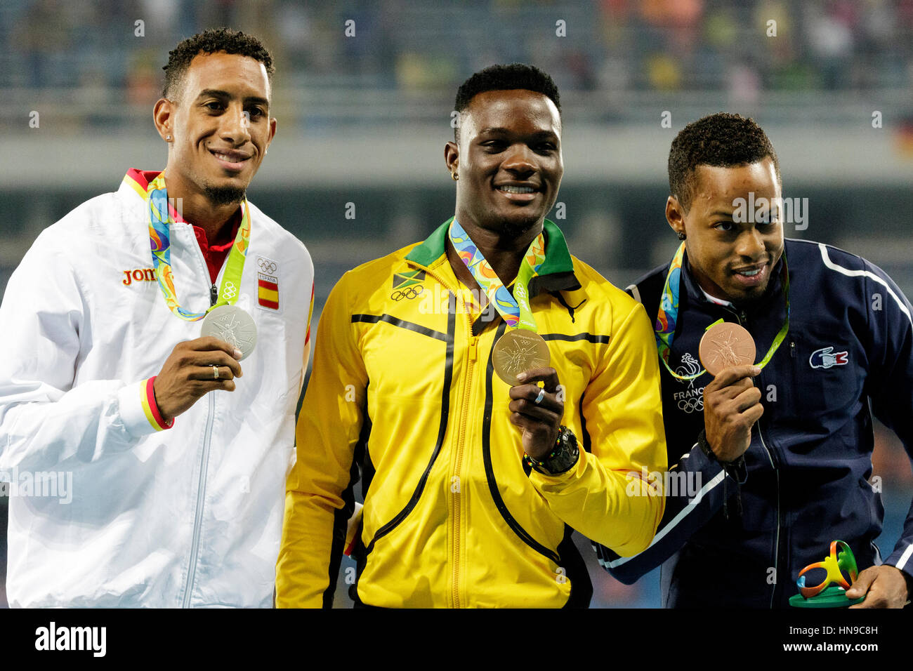
{"type": "Polygon", "coordinates": [[[532,331],[536,330],[536,320],[532,317],[530,309],[530,279],[536,277],[536,273],[545,261],[545,236],[541,233],[530,243],[523,260],[520,261],[517,279],[514,281],[514,290],[511,294],[509,289],[504,286],[504,282],[498,278],[498,274],[491,267],[491,264],[478,251],[476,243],[468,236],[463,226],[459,225],[454,217],[447,229],[447,236],[456,249],[456,254],[462,259],[472,277],[478,282],[478,286],[485,291],[488,300],[498,310],[498,314],[504,318],[505,323],[510,329],[522,328],[532,331]]]}

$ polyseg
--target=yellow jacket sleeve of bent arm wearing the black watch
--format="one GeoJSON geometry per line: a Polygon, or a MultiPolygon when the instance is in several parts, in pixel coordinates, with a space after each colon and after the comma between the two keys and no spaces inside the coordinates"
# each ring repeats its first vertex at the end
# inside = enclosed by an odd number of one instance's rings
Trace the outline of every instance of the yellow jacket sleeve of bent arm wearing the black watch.
{"type": "Polygon", "coordinates": [[[650,544],[665,504],[662,489],[646,481],[666,470],[655,336],[643,306],[631,304],[613,311],[609,351],[583,393],[592,452],[578,435],[576,466],[557,476],[530,473],[559,518],[623,557],[650,544]]]}

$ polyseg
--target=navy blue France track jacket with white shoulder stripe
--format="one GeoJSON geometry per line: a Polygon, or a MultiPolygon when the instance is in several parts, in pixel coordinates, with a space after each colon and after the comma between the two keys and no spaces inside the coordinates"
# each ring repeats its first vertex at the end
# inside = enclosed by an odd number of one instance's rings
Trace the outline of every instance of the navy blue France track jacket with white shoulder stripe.
{"type": "MultiPolygon", "coordinates": [[[[661,365],[666,512],[653,543],[634,557],[595,546],[600,563],[622,582],[662,563],[664,607],[785,607],[798,592],[799,571],[822,561],[832,540],[849,543],[859,571],[882,562],[874,540],[884,508],[868,482],[872,414],[913,458],[913,309],[864,258],[791,239],[785,257],[790,328],[754,378],[764,414],[751,430],[744,468],[727,474],[697,446],[710,375],[682,382],[661,365]]],[[[708,301],[687,255],[682,270],[672,369],[700,370],[698,342],[720,318],[750,331],[760,361],[786,316],[781,266],[747,309],[708,301]]],[[[667,265],[656,268],[628,287],[654,320],[667,272],[667,265]]],[[[885,563],[913,575],[913,506],[885,563]]]]}

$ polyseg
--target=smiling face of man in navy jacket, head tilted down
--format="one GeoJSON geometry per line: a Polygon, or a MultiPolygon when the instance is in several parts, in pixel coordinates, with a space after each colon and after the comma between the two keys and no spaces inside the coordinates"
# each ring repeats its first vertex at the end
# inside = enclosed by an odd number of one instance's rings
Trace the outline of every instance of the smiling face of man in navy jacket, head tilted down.
{"type": "MultiPolygon", "coordinates": [[[[736,199],[780,203],[781,185],[770,157],[732,168],[698,165],[694,196],[685,214],[674,196],[666,202],[666,219],[687,236],[688,263],[701,288],[718,299],[748,303],[761,298],[771,270],[783,253],[780,217],[765,223],[736,222],[736,199]],[[774,200],[776,199],[776,200],[774,200]]],[[[779,210],[778,210],[779,211],[779,210]]]]}

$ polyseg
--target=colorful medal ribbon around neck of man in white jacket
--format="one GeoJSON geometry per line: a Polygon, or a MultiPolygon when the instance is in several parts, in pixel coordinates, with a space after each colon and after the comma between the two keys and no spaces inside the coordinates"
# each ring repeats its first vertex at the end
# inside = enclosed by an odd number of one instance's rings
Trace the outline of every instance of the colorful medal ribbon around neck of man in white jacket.
{"type": "Polygon", "coordinates": [[[149,183],[149,187],[146,189],[146,202],[149,204],[149,243],[152,246],[152,266],[155,268],[155,278],[159,280],[159,288],[162,289],[168,309],[182,320],[198,321],[202,320],[209,310],[236,302],[241,287],[241,272],[244,270],[244,261],[247,257],[247,246],[250,244],[250,208],[247,207],[247,200],[241,204],[243,213],[241,225],[237,228],[235,244],[228,254],[228,264],[222,276],[222,287],[219,288],[218,300],[205,312],[191,312],[182,308],[177,302],[171,267],[171,236],[168,231],[168,225],[173,220],[168,212],[164,171],[149,183]]]}

